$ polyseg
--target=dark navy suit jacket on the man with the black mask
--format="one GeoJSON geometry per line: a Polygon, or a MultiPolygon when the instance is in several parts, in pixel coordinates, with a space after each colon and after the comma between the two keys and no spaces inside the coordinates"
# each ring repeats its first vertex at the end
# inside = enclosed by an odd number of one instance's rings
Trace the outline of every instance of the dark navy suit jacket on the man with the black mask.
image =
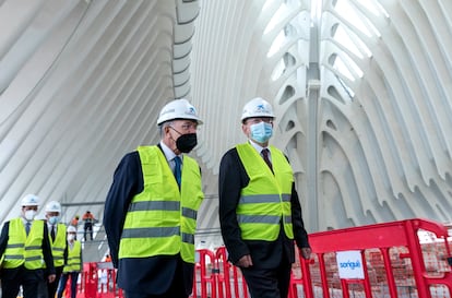
{"type": "Polygon", "coordinates": [[[119,241],[129,204],[133,196],[142,191],[143,172],[140,155],[132,152],[122,158],[115,171],[104,212],[111,261],[118,269],[118,285],[126,291],[158,295],[167,291],[176,277],[183,279],[186,291],[190,294],[194,266],[183,262],[179,254],[118,260],[119,241]]]}

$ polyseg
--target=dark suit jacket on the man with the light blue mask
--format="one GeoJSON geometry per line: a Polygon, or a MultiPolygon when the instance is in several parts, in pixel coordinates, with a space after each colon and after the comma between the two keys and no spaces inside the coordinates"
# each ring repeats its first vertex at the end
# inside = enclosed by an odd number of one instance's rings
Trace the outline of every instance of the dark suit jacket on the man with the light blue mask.
{"type": "MultiPolygon", "coordinates": [[[[279,264],[281,258],[295,261],[295,247],[284,231],[279,233],[276,241],[257,241],[241,239],[240,228],[237,222],[236,208],[240,199],[240,192],[248,186],[250,178],[238,156],[237,150],[229,150],[222,158],[219,165],[219,224],[229,261],[236,263],[241,257],[251,254],[253,266],[274,269],[279,264]]],[[[292,188],[292,222],[294,238],[299,248],[308,248],[308,234],[301,217],[301,206],[298,200],[295,184],[292,188]]]]}

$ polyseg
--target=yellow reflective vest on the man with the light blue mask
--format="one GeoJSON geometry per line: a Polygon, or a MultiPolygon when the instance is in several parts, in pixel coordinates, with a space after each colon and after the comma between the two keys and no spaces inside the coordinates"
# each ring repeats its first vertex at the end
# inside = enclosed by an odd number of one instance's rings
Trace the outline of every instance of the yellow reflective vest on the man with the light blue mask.
{"type": "Polygon", "coordinates": [[[245,170],[250,178],[237,206],[237,220],[246,240],[274,241],[281,220],[289,239],[294,238],[290,195],[294,176],[284,154],[271,146],[273,171],[249,144],[236,146],[245,170]]]}

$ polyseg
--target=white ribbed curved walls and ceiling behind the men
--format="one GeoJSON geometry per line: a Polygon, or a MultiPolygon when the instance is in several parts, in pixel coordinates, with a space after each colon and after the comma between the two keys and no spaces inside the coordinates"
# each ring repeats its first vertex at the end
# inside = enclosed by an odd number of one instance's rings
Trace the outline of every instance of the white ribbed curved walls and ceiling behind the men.
{"type": "Polygon", "coordinates": [[[102,218],[119,159],[187,97],[217,234],[222,154],[242,105],[277,115],[309,231],[451,220],[449,0],[0,1],[0,220],[37,193],[102,218]]]}

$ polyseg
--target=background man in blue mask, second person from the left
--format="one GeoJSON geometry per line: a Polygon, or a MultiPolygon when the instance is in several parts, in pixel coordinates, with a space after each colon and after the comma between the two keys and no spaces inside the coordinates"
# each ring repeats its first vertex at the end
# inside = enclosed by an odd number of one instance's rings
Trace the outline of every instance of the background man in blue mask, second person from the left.
{"type": "Polygon", "coordinates": [[[61,220],[61,204],[57,201],[50,201],[46,205],[46,220],[49,230],[49,239],[53,255],[53,265],[57,277],[53,283],[47,284],[48,298],[53,298],[57,294],[58,283],[64,264],[68,260],[68,247],[66,242],[66,225],[61,220]]]}

